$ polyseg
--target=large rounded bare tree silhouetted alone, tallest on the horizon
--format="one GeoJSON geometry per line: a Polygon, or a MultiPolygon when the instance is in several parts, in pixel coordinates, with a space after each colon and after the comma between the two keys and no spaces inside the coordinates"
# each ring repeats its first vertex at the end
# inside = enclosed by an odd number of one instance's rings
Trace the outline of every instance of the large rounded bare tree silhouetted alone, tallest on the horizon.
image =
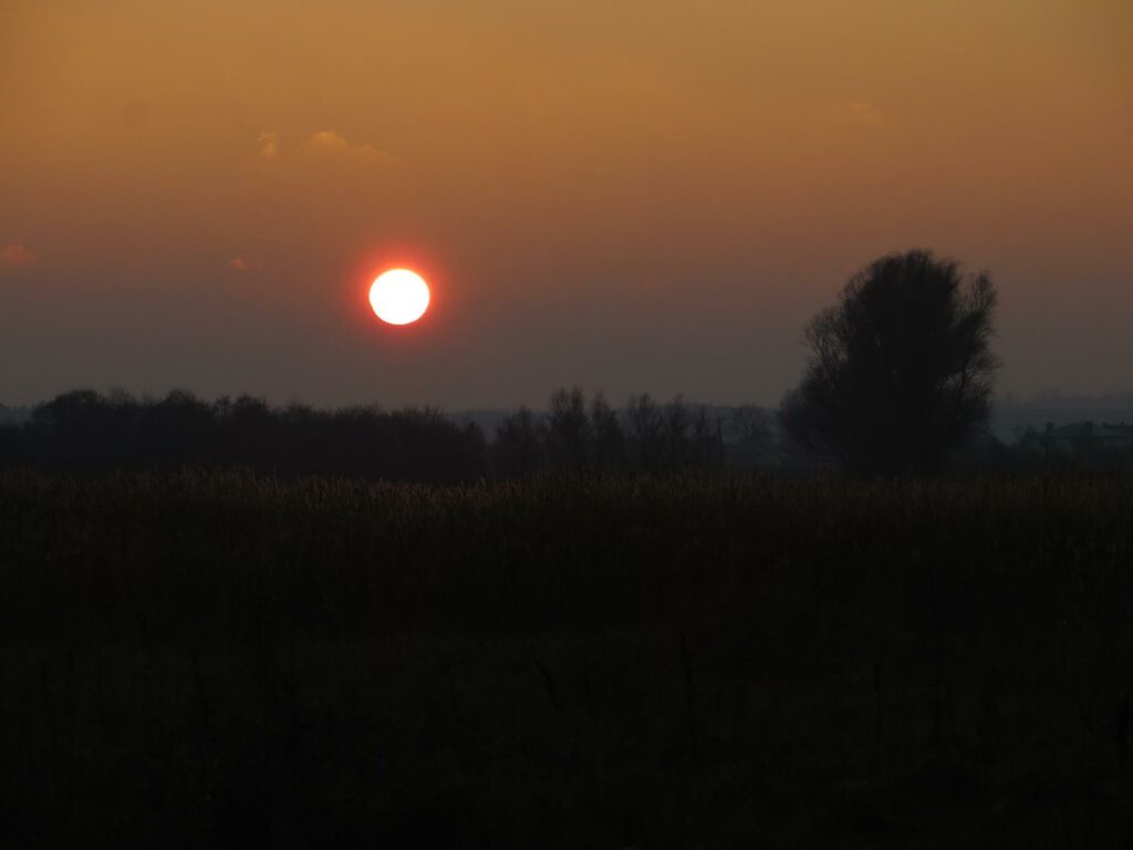
{"type": "Polygon", "coordinates": [[[938,469],[988,417],[995,306],[990,278],[965,279],[955,261],[914,250],[874,262],[808,328],[786,432],[849,469],[938,469]]]}

